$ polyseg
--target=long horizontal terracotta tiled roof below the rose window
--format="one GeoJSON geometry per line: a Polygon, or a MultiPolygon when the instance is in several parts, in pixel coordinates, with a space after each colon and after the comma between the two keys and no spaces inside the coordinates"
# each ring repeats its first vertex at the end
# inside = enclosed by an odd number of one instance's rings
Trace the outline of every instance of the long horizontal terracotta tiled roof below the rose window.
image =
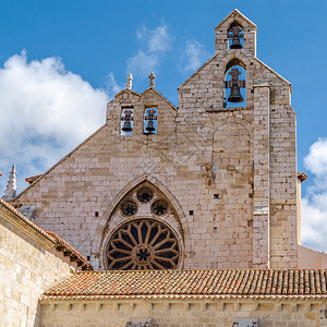
{"type": "Polygon", "coordinates": [[[327,299],[327,269],[77,272],[43,300],[327,299]]]}

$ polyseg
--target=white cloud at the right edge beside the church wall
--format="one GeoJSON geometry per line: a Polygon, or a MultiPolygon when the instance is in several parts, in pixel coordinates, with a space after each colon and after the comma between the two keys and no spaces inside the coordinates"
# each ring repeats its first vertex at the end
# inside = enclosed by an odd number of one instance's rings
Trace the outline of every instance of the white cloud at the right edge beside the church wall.
{"type": "Polygon", "coordinates": [[[314,185],[302,198],[302,242],[327,252],[327,138],[319,138],[304,158],[314,185]]]}

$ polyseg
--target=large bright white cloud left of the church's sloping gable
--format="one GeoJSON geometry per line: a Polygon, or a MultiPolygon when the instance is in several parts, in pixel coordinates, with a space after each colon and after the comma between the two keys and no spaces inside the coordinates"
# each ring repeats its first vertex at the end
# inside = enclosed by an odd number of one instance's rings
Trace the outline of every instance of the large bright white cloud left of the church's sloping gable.
{"type": "Polygon", "coordinates": [[[19,191],[105,123],[107,95],[59,58],[9,58],[0,69],[0,196],[13,162],[19,191]]]}

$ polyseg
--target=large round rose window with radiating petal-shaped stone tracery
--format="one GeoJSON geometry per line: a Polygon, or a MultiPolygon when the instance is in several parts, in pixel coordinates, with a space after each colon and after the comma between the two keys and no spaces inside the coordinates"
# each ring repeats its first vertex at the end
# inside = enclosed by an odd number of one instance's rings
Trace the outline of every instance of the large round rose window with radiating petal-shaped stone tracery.
{"type": "Polygon", "coordinates": [[[175,269],[180,250],[173,232],[162,222],[142,219],[126,222],[111,237],[109,269],[175,269]]]}

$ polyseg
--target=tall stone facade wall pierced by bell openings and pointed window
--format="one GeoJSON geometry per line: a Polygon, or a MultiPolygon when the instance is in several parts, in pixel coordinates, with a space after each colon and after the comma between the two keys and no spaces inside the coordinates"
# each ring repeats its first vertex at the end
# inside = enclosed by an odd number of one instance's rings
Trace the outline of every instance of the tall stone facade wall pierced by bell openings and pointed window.
{"type": "Polygon", "coordinates": [[[152,87],[119,93],[108,104],[106,125],[15,204],[35,205],[37,225],[102,269],[105,238],[114,230],[112,213],[147,181],[177,213],[184,238],[180,268],[296,267],[291,86],[255,57],[255,25],[238,12],[218,25],[216,53],[179,87],[179,108],[152,87]],[[233,20],[246,29],[241,50],[227,47],[233,20]],[[246,71],[245,107],[223,108],[231,63],[246,71]],[[122,110],[131,107],[133,133],[121,135],[122,110]],[[154,135],[143,133],[148,107],[158,109],[154,135]]]}

